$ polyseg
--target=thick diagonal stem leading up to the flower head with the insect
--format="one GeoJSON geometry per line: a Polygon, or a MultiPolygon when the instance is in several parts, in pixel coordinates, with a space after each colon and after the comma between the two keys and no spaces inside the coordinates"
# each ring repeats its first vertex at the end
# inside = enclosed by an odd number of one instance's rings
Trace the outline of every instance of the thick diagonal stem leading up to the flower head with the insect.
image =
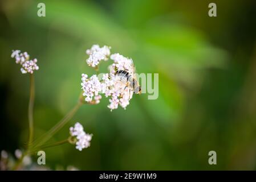
{"type": "Polygon", "coordinates": [[[46,134],[44,134],[37,143],[33,143],[33,146],[36,148],[46,143],[55,133],[57,133],[64,125],[66,125],[68,121],[70,121],[80,106],[82,106],[82,102],[80,102],[79,98],[78,104],[76,104],[75,107],[67,115],[65,115],[62,120],[60,120],[54,127],[52,127],[46,134]]]}

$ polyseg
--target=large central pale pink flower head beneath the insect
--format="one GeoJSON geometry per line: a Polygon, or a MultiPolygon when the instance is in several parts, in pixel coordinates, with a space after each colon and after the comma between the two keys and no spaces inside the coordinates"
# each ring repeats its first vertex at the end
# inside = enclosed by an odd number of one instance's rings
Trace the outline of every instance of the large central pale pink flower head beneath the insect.
{"type": "MultiPolygon", "coordinates": [[[[82,89],[83,96],[85,100],[89,103],[96,100],[96,97],[100,96],[99,93],[105,94],[105,97],[111,97],[109,99],[108,108],[117,109],[120,105],[124,109],[129,105],[129,100],[131,100],[133,95],[133,90],[129,88],[129,83],[127,83],[128,75],[133,75],[135,73],[133,61],[119,53],[114,53],[111,55],[109,47],[99,45],[92,46],[91,49],[87,50],[87,54],[90,57],[87,59],[88,65],[95,67],[99,64],[100,60],[108,60],[110,58],[113,60],[113,64],[110,65],[110,72],[103,75],[101,81],[93,75],[88,78],[86,74],[82,75],[82,89]],[[126,75],[116,74],[117,71],[125,71],[126,75]]],[[[101,97],[100,97],[101,98],[101,97]]],[[[96,104],[100,101],[97,100],[96,104]]]]}

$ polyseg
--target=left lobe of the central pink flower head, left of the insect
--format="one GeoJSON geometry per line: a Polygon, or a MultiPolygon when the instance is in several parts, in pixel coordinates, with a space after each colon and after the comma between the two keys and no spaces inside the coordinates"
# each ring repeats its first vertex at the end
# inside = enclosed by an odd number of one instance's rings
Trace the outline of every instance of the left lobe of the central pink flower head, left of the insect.
{"type": "Polygon", "coordinates": [[[101,90],[101,84],[99,79],[96,75],[92,75],[88,78],[88,75],[82,74],[82,89],[83,89],[83,96],[86,97],[87,102],[92,102],[94,99],[96,104],[99,104],[101,96],[99,92],[101,90]]]}

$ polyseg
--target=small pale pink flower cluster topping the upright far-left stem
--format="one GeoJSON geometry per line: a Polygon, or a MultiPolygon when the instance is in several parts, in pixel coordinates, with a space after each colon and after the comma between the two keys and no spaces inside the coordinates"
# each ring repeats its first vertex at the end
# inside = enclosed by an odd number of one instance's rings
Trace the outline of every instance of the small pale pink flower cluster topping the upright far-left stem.
{"type": "Polygon", "coordinates": [[[36,65],[37,59],[29,60],[29,54],[27,52],[21,53],[19,50],[13,50],[11,57],[15,58],[16,63],[22,66],[21,72],[25,73],[34,73],[35,70],[38,70],[39,67],[36,65]]]}

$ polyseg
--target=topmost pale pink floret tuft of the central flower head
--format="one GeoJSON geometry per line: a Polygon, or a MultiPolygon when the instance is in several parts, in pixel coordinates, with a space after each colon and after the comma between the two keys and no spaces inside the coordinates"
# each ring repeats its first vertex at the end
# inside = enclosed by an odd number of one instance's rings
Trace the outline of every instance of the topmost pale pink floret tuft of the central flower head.
{"type": "Polygon", "coordinates": [[[90,67],[96,67],[101,60],[107,61],[110,55],[111,47],[99,45],[93,45],[91,49],[87,49],[86,53],[89,55],[89,58],[86,60],[87,64],[90,67]]]}

